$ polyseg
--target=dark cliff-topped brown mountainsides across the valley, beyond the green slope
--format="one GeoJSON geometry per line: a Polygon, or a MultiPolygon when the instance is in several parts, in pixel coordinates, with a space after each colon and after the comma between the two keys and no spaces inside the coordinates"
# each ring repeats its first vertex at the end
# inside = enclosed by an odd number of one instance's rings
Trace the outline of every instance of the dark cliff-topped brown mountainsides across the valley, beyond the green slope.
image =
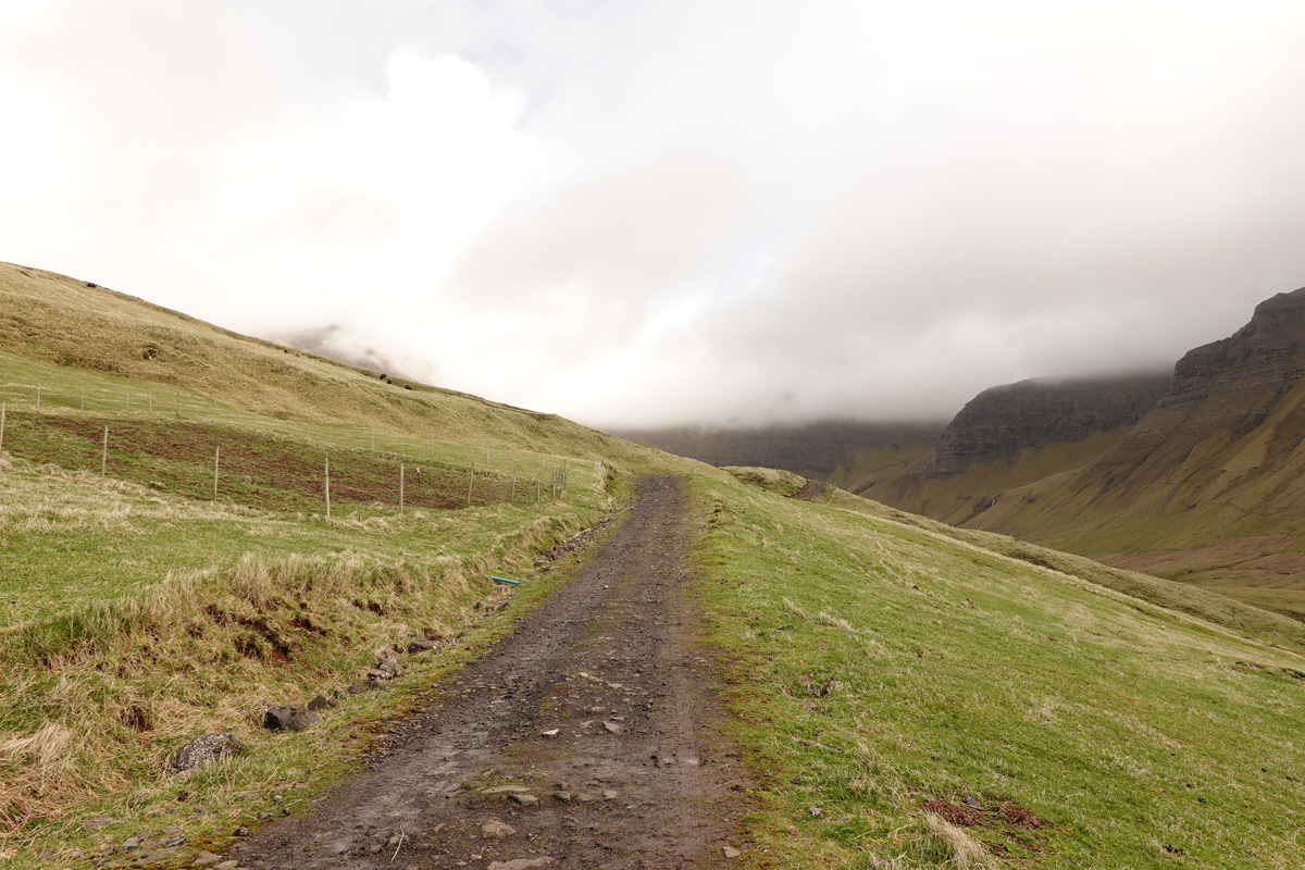
{"type": "Polygon", "coordinates": [[[1302,376],[1305,290],[1266,300],[1172,373],[996,386],[932,438],[899,423],[624,434],[1305,618],[1302,376]],[[885,443],[897,463],[860,460],[885,443]]]}

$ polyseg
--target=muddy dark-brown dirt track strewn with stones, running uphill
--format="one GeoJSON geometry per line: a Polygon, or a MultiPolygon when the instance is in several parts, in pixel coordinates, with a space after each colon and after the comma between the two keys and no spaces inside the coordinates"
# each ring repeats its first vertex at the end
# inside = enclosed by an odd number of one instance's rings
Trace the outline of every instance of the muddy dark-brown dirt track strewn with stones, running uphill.
{"type": "MultiPolygon", "coordinates": [[[[715,728],[676,477],[445,683],[384,758],[240,843],[258,870],[711,867],[743,806],[715,728]]],[[[732,852],[731,852],[732,854],[732,852]]]]}

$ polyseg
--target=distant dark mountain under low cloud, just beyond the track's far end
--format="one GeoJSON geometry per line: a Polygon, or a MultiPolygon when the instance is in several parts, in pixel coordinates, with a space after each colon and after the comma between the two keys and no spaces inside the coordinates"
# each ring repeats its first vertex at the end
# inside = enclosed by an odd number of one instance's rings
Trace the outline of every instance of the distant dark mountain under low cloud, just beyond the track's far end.
{"type": "Polygon", "coordinates": [[[612,434],[713,466],[782,468],[847,489],[928,453],[941,423],[827,421],[758,429],[639,429],[612,434]]]}

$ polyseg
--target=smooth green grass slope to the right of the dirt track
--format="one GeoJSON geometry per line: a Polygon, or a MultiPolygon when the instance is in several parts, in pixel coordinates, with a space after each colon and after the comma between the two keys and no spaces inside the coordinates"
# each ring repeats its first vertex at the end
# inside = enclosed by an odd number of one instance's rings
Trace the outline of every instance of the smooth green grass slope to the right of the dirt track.
{"type": "Polygon", "coordinates": [[[1298,655],[930,530],[694,480],[757,863],[1296,866],[1298,655]]]}

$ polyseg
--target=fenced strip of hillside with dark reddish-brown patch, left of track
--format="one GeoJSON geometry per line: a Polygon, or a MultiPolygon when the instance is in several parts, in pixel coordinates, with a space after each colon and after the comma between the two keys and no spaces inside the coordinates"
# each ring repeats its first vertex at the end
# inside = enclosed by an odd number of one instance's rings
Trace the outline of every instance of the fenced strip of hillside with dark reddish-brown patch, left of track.
{"type": "Polygon", "coordinates": [[[324,511],[329,487],[337,511],[448,510],[565,497],[572,475],[603,488],[591,460],[262,417],[181,389],[40,368],[35,382],[0,382],[0,449],[192,498],[324,511]]]}

